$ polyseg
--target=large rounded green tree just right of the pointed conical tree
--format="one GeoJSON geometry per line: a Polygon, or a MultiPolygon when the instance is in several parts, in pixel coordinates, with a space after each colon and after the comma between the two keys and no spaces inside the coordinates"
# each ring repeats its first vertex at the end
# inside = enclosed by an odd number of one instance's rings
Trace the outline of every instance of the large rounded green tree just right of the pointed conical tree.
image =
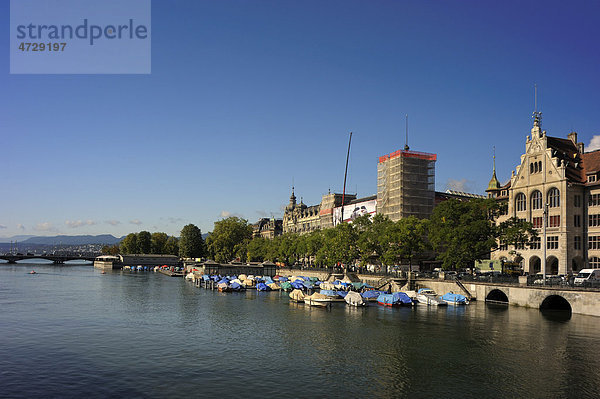
{"type": "Polygon", "coordinates": [[[252,239],[252,226],[245,219],[229,217],[215,222],[207,237],[208,253],[217,262],[226,263],[247,254],[246,245],[252,239]]]}

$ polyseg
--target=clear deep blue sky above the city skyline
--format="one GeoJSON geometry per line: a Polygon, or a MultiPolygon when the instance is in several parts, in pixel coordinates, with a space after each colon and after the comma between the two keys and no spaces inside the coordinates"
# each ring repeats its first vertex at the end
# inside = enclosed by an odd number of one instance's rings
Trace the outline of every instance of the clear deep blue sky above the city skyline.
{"type": "Polygon", "coordinates": [[[600,135],[600,2],[152,2],[151,75],[10,75],[0,2],[0,236],[203,232],[376,193],[377,158],[436,187],[506,181],[539,87],[549,135],[600,135]]]}

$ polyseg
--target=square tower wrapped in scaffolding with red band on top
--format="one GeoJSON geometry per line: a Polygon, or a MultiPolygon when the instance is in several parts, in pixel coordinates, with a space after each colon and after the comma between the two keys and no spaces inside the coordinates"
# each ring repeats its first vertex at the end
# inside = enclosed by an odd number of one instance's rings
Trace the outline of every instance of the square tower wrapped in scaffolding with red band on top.
{"type": "Polygon", "coordinates": [[[410,151],[408,146],[379,157],[377,213],[392,221],[428,218],[435,204],[436,160],[436,154],[410,151]]]}

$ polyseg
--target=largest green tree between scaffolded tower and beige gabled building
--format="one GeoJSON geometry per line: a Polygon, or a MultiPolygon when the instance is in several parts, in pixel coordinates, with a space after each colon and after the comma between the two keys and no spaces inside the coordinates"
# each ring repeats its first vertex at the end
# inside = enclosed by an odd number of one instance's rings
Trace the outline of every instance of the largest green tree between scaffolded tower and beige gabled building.
{"type": "Polygon", "coordinates": [[[449,200],[433,210],[429,240],[444,269],[472,267],[496,248],[493,199],[449,200]]]}

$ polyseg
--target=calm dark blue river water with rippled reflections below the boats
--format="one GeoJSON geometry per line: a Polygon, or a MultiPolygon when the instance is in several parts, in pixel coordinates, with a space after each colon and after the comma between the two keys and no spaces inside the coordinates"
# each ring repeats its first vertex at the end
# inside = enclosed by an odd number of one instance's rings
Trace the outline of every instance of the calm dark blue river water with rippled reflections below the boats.
{"type": "Polygon", "coordinates": [[[597,397],[599,332],[600,318],[484,303],[323,310],[150,272],[0,265],[0,397],[597,397]]]}

